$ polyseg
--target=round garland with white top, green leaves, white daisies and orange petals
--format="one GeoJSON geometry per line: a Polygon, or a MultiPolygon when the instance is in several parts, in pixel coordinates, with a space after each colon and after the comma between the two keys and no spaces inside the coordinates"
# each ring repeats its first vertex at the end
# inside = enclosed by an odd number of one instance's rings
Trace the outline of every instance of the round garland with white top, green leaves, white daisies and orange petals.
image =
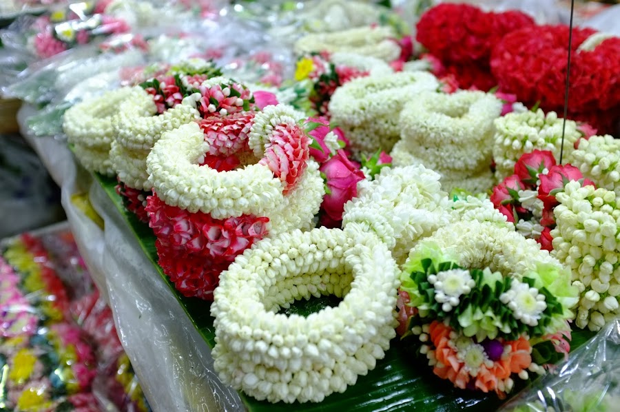
{"type": "Polygon", "coordinates": [[[401,330],[455,387],[504,398],[513,378],[544,373],[566,351],[561,334],[577,288],[510,225],[473,220],[437,230],[411,250],[401,281],[409,313],[401,330]]]}

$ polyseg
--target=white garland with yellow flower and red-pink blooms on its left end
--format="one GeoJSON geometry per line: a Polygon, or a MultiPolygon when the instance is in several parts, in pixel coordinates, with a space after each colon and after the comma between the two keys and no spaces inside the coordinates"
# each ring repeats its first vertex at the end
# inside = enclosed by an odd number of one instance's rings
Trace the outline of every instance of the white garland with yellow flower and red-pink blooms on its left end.
{"type": "Polygon", "coordinates": [[[309,83],[311,109],[320,116],[329,116],[329,100],[333,92],[344,83],[371,72],[388,74],[391,69],[384,61],[371,56],[313,52],[298,59],[295,80],[309,83]]]}

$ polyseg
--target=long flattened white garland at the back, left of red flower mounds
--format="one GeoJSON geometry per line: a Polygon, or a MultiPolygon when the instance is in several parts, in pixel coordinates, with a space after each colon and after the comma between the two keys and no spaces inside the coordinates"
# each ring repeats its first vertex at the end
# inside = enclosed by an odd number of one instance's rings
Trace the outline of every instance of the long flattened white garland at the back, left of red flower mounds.
{"type": "Polygon", "coordinates": [[[307,34],[295,43],[298,55],[312,52],[349,52],[386,62],[400,56],[396,33],[389,26],[360,27],[330,33],[307,34]]]}

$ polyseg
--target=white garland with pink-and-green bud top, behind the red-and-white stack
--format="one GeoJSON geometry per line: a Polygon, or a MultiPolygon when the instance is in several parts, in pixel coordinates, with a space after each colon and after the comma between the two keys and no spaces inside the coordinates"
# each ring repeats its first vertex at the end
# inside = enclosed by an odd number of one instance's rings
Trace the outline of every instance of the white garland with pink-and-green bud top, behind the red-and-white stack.
{"type": "MultiPolygon", "coordinates": [[[[211,61],[189,59],[140,83],[121,103],[112,121],[116,140],[112,142],[110,160],[118,178],[117,192],[123,196],[125,207],[141,220],[147,221],[144,206],[151,185],[146,158],[151,148],[163,132],[200,119],[196,94],[200,87],[206,87],[205,81],[219,74],[211,61]]],[[[224,100],[224,96],[219,99],[222,104],[224,100]]]]}

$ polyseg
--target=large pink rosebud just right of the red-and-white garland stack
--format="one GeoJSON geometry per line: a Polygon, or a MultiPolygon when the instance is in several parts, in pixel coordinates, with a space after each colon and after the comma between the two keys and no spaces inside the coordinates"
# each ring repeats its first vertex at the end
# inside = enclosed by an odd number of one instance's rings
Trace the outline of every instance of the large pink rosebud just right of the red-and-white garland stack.
{"type": "Polygon", "coordinates": [[[320,167],[327,179],[330,193],[325,194],[321,205],[325,214],[335,222],[342,220],[344,203],[358,194],[358,182],[364,180],[364,173],[355,167],[342,150],[320,167]]]}

